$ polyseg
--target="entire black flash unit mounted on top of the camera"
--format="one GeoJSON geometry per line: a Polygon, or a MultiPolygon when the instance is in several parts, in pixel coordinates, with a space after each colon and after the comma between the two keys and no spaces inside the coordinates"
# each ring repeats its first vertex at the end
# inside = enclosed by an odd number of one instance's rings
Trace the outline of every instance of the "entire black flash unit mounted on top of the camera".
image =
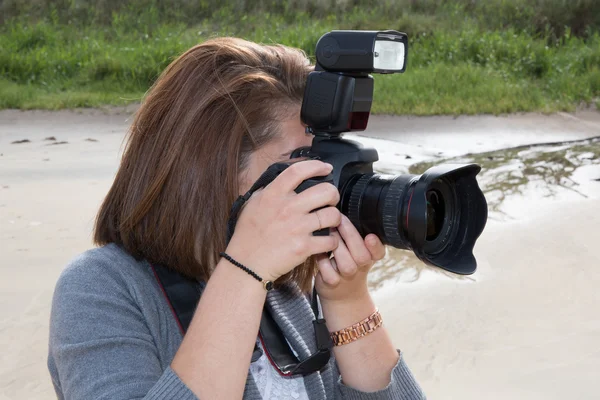
{"type": "Polygon", "coordinates": [[[398,31],[331,31],[319,39],[300,118],[307,132],[334,137],[367,128],[373,102],[371,73],[404,72],[408,36],[398,31]]]}

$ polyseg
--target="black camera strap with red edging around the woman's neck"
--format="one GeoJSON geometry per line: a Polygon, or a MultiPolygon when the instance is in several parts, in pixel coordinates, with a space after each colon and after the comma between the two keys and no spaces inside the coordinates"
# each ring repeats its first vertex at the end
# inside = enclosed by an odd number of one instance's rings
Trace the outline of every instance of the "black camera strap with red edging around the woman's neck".
{"type": "MultiPolygon", "coordinates": [[[[287,168],[285,164],[271,165],[252,185],[250,190],[243,196],[239,196],[233,203],[227,223],[227,243],[229,243],[229,240],[233,236],[239,214],[246,201],[248,201],[254,192],[271,183],[285,168],[287,168]]],[[[185,335],[192,321],[196,306],[200,301],[204,283],[184,277],[178,272],[162,265],[154,264],[151,267],[161,291],[171,308],[181,334],[185,335]]],[[[319,318],[319,304],[315,288],[313,288],[312,292],[311,308],[315,315],[313,327],[317,351],[304,361],[300,361],[294,354],[268,308],[263,308],[259,339],[262,347],[265,349],[267,358],[281,375],[308,375],[321,370],[329,362],[333,342],[329,336],[329,330],[325,325],[325,319],[319,318]]],[[[252,361],[256,361],[261,355],[260,348],[255,346],[252,361]]]]}

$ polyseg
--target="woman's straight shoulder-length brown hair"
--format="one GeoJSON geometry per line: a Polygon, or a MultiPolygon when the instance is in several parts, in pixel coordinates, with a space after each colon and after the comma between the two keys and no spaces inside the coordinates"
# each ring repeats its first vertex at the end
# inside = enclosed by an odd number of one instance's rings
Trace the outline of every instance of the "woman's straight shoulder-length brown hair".
{"type": "MultiPolygon", "coordinates": [[[[300,50],[236,38],[208,40],[173,61],[135,116],[95,243],[208,280],[226,246],[238,177],[297,112],[311,69],[300,50]]],[[[284,280],[307,290],[313,276],[307,262],[284,280]]]]}

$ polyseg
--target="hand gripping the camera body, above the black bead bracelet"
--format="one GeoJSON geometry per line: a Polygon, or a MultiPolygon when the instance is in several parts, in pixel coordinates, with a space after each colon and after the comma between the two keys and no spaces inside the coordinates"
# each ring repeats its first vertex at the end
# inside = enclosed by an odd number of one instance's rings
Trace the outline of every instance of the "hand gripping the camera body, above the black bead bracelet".
{"type": "Polygon", "coordinates": [[[306,179],[325,176],[332,169],[317,160],[296,162],[255,192],[240,213],[227,254],[274,281],[311,255],[337,248],[337,237],[312,235],[340,224],[337,188],[320,183],[301,193],[294,191],[306,179]]]}

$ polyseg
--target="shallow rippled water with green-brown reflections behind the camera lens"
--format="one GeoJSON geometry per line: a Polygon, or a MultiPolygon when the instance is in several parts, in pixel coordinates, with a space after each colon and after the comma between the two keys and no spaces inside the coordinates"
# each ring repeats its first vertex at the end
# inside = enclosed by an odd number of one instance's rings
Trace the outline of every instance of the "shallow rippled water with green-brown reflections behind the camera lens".
{"type": "MultiPolygon", "coordinates": [[[[384,151],[386,162],[376,164],[379,173],[421,174],[442,163],[477,163],[482,171],[478,182],[486,195],[489,219],[508,221],[524,219],[551,202],[573,198],[600,197],[600,137],[569,143],[529,145],[449,158],[422,154],[421,159],[400,159],[390,162],[390,153],[398,152],[394,145],[384,151]],[[434,158],[434,159],[432,159],[434,158]],[[412,164],[408,165],[410,161],[412,164]]],[[[426,274],[432,278],[472,282],[469,276],[447,273],[420,261],[412,251],[388,248],[386,257],[369,274],[370,288],[398,282],[421,281],[426,274]]]]}

